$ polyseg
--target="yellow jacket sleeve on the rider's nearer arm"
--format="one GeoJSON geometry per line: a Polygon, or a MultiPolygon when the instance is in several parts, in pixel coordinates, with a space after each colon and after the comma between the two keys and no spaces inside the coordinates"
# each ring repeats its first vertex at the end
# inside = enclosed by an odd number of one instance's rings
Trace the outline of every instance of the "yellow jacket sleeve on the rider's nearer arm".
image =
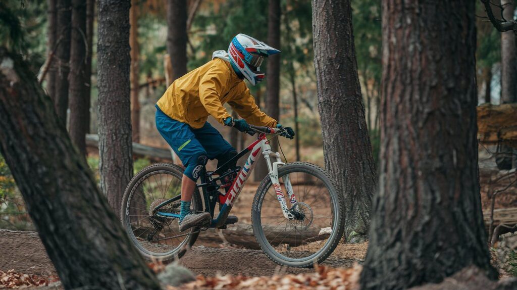
{"type": "Polygon", "coordinates": [[[221,104],[220,94],[224,91],[228,79],[225,66],[210,68],[200,80],[199,96],[206,111],[224,125],[224,119],[231,115],[221,104]]]}

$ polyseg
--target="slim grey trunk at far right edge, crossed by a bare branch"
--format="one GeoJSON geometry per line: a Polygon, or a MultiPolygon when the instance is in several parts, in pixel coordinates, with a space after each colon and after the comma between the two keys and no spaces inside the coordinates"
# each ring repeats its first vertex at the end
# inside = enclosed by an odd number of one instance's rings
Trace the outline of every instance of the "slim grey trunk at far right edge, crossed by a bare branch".
{"type": "MultiPolygon", "coordinates": [[[[513,20],[515,6],[513,0],[501,0],[503,17],[513,20]]],[[[515,32],[501,33],[501,103],[517,102],[517,50],[515,32]]]]}

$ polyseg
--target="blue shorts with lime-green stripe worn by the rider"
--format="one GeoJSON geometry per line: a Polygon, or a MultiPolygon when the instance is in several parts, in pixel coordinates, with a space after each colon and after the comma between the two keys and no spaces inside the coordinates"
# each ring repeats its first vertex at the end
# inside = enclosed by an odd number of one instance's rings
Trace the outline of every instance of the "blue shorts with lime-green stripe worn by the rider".
{"type": "MultiPolygon", "coordinates": [[[[214,159],[227,152],[235,151],[210,123],[206,122],[203,127],[194,129],[188,124],[165,115],[158,105],[156,105],[156,128],[187,169],[191,167],[193,170],[198,165],[200,156],[214,159]]],[[[197,176],[192,176],[191,170],[187,169],[185,175],[194,181],[197,180],[197,176]]]]}

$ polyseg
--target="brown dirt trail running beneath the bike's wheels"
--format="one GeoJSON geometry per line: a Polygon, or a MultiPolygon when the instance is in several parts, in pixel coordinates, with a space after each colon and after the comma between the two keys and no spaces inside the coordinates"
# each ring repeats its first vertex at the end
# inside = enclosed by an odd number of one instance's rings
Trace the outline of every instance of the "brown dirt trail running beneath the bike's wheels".
{"type": "MultiPolygon", "coordinates": [[[[55,269],[36,232],[0,230],[0,270],[15,269],[20,273],[55,275],[55,269]]],[[[361,258],[364,248],[351,249],[361,258]]],[[[354,255],[344,255],[339,249],[332,254],[325,265],[351,267],[354,255]]],[[[271,262],[262,251],[232,248],[193,247],[181,258],[180,263],[195,274],[215,276],[215,274],[244,274],[246,276],[271,276],[276,272],[300,273],[312,269],[285,268],[271,262]]]]}

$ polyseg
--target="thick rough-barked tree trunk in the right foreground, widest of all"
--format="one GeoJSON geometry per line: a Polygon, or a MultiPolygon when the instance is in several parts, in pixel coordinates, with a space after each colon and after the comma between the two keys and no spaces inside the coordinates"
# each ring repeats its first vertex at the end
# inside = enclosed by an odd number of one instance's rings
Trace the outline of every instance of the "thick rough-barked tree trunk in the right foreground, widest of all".
{"type": "Polygon", "coordinates": [[[381,174],[362,289],[437,283],[467,266],[497,278],[479,193],[474,9],[383,2],[381,174]]]}

